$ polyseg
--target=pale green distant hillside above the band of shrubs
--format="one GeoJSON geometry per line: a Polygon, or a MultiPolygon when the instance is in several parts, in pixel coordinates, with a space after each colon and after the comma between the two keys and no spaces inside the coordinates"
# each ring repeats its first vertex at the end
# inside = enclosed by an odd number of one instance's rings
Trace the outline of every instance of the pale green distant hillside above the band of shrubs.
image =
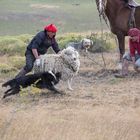
{"type": "Polygon", "coordinates": [[[60,34],[100,29],[94,0],[0,0],[0,35],[34,34],[49,23],[60,34]]]}

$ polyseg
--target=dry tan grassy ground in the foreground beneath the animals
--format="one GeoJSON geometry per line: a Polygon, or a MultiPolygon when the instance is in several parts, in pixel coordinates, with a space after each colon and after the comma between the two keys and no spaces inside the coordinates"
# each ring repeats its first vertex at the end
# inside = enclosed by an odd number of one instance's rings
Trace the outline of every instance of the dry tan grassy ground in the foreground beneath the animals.
{"type": "Polygon", "coordinates": [[[43,90],[1,99],[0,140],[140,140],[140,74],[131,68],[127,78],[115,78],[117,54],[103,56],[105,70],[101,54],[81,56],[73,91],[60,82],[62,95],[43,90]]]}

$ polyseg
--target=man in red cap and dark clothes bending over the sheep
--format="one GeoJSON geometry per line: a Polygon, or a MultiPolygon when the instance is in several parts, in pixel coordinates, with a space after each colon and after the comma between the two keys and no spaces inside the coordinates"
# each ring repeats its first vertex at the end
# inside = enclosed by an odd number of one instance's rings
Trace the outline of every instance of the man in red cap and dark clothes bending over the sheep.
{"type": "Polygon", "coordinates": [[[52,47],[55,53],[60,51],[55,40],[57,27],[54,24],[47,25],[43,31],[40,31],[27,46],[25,57],[26,65],[16,75],[16,78],[24,76],[33,68],[34,62],[40,65],[40,55],[47,53],[49,47],[52,47]]]}

